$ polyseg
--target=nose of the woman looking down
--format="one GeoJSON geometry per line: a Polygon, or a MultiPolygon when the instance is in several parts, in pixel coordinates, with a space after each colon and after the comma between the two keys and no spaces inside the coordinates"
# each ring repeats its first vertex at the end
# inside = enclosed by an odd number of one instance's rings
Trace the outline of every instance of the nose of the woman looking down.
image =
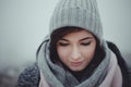
{"type": "Polygon", "coordinates": [[[81,51],[78,47],[73,47],[71,51],[71,59],[73,61],[76,61],[81,58],[81,51]]]}

